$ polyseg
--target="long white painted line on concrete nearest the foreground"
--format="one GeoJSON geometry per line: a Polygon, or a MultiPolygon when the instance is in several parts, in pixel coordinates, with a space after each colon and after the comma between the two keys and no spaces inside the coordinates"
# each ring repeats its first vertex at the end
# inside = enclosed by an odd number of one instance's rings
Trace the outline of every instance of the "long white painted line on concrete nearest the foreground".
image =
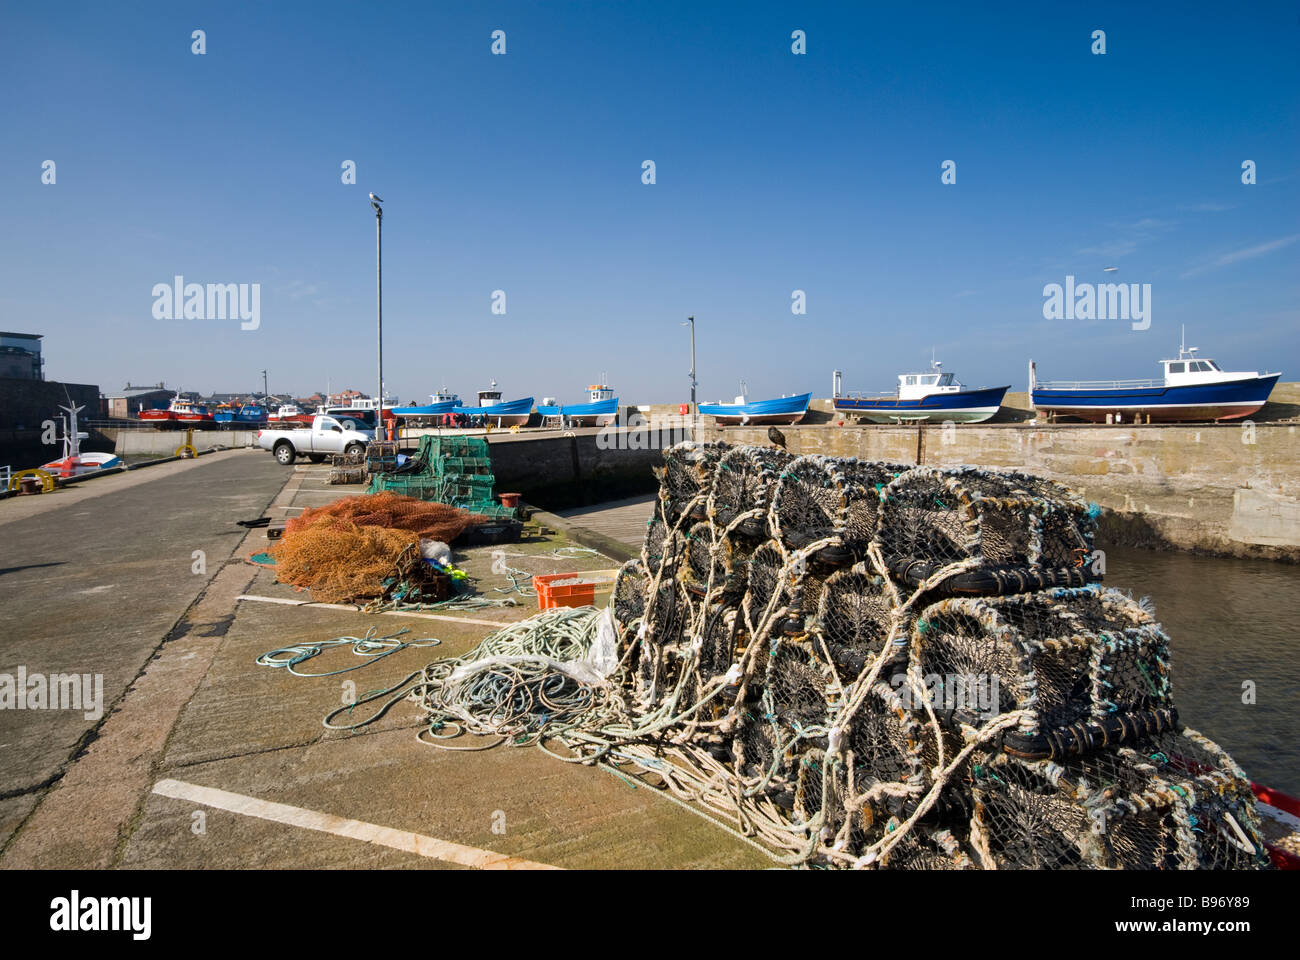
{"type": "Polygon", "coordinates": [[[413,834],[410,830],[394,830],[377,823],[367,823],[361,820],[347,820],[335,817],[333,813],[308,810],[302,807],[277,804],[270,800],[259,800],[254,796],[231,793],[213,787],[200,787],[185,780],[159,780],[153,784],[153,792],[159,796],[169,796],[173,800],[188,800],[216,807],[218,810],[242,813],[246,817],[269,820],[274,823],[287,823],[303,830],[317,830],[322,834],[347,836],[354,840],[374,843],[380,847],[391,847],[407,853],[415,853],[430,860],[442,860],[447,864],[472,866],[478,870],[559,870],[559,866],[538,864],[520,857],[508,857],[504,853],[493,853],[490,849],[465,847],[451,840],[439,840],[437,836],[413,834]]]}

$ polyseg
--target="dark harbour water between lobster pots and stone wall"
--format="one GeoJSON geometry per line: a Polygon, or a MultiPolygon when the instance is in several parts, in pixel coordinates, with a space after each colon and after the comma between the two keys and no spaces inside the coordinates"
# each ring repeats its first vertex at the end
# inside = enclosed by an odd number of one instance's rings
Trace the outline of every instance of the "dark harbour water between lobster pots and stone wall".
{"type": "Polygon", "coordinates": [[[1105,554],[1106,585],[1156,605],[1182,722],[1225,747],[1256,783],[1300,795],[1300,567],[1122,548],[1105,554]],[[1243,702],[1248,683],[1253,704],[1243,702]]]}

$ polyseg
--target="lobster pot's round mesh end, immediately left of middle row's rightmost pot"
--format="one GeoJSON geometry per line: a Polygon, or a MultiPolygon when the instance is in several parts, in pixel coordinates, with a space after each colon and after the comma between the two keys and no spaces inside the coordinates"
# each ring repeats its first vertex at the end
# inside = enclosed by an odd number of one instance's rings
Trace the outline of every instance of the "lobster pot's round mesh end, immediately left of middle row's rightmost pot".
{"type": "Polygon", "coordinates": [[[883,656],[901,656],[890,643],[898,596],[884,578],[862,565],[838,570],[823,585],[810,628],[845,683],[870,670],[883,656]]]}

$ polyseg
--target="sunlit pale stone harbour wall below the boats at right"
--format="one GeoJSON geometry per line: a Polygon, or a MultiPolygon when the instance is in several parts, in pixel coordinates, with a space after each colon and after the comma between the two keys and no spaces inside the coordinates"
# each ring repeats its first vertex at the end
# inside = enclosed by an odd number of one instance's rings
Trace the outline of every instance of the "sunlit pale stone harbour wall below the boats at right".
{"type": "MultiPolygon", "coordinates": [[[[1300,562],[1296,424],[783,427],[798,454],[1022,470],[1106,509],[1112,542],[1300,562]]],[[[768,444],[767,428],[701,440],[768,444]]]]}

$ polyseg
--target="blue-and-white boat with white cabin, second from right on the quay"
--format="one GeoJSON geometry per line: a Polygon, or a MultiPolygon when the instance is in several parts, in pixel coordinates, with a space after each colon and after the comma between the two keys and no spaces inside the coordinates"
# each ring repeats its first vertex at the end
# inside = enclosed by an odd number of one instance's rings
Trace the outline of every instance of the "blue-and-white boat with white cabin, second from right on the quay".
{"type": "Polygon", "coordinates": [[[931,360],[926,373],[900,373],[892,394],[840,392],[840,371],[835,372],[835,412],[859,416],[871,423],[982,423],[1002,406],[1011,385],[970,389],[942,363],[931,360]]]}

